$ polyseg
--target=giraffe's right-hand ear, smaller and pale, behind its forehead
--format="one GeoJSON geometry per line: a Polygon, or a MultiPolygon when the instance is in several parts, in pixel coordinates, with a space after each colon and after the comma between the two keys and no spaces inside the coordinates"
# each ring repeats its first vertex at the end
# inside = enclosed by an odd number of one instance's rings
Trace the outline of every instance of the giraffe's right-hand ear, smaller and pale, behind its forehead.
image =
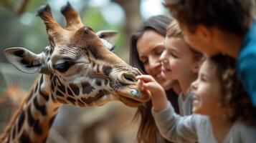
{"type": "Polygon", "coordinates": [[[115,46],[115,41],[118,39],[118,31],[98,31],[96,35],[100,38],[103,44],[112,51],[115,46]]]}

